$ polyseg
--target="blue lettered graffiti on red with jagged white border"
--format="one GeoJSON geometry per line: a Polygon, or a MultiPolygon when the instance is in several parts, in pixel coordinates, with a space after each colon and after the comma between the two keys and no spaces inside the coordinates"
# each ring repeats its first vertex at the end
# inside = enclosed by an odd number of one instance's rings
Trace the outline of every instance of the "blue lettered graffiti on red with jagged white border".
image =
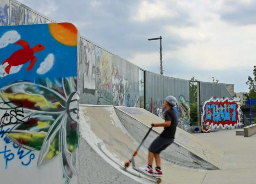
{"type": "Polygon", "coordinates": [[[234,100],[212,97],[204,102],[202,119],[211,129],[234,129],[241,126],[240,113],[234,100]]]}

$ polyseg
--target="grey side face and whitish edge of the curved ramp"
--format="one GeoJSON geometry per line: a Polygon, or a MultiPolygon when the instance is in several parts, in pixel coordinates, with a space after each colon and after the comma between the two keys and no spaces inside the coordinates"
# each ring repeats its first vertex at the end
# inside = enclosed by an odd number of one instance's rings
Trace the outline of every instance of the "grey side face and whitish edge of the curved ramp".
{"type": "MultiPolygon", "coordinates": [[[[90,107],[89,107],[90,108],[90,107]]],[[[150,184],[133,169],[123,169],[123,163],[110,153],[104,140],[98,138],[90,124],[93,114],[80,107],[79,183],[80,184],[150,184]]]]}

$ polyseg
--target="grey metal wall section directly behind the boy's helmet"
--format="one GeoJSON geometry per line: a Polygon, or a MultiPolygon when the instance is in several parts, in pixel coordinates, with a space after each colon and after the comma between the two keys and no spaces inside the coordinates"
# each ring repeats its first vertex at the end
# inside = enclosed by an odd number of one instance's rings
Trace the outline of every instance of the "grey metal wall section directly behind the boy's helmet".
{"type": "Polygon", "coordinates": [[[175,108],[178,127],[188,131],[190,126],[189,81],[146,71],[146,109],[163,118],[162,108],[168,95],[178,100],[175,108]]]}

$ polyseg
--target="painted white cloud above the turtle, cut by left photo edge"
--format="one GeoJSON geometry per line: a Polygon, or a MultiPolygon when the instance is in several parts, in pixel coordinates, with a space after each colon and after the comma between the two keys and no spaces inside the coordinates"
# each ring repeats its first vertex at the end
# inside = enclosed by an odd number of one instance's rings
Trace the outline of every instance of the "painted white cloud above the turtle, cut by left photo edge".
{"type": "Polygon", "coordinates": [[[20,35],[17,31],[7,31],[0,38],[0,48],[13,44],[20,39],[20,35]]]}

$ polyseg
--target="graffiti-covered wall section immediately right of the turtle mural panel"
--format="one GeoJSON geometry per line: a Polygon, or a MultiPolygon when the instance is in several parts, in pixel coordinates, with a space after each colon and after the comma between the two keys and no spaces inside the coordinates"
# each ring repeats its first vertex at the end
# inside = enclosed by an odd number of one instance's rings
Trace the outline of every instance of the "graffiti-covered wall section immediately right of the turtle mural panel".
{"type": "Polygon", "coordinates": [[[80,40],[81,103],[139,107],[139,67],[80,40]]]}

